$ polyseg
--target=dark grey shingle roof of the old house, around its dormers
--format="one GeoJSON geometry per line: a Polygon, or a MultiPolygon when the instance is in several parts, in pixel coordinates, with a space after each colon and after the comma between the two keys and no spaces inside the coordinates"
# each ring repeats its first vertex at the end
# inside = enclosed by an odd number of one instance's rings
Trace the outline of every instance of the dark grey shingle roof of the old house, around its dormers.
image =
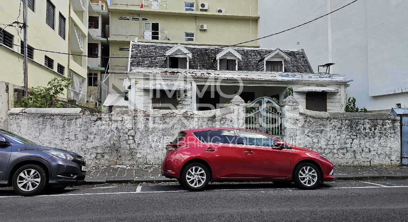
{"type": "MultiPolygon", "coordinates": [[[[146,68],[167,68],[166,51],[173,48],[174,44],[155,44],[137,42],[131,47],[131,67],[146,68]],[[152,56],[162,56],[149,58],[152,56]]],[[[189,59],[190,69],[216,70],[215,58],[218,53],[225,48],[203,47],[183,45],[192,53],[189,59]]],[[[258,61],[274,49],[256,49],[233,47],[235,51],[242,55],[242,60],[238,60],[238,71],[260,71],[258,61]]],[[[285,61],[285,72],[313,73],[312,67],[307,60],[303,50],[282,50],[290,56],[290,62],[285,61]]]]}

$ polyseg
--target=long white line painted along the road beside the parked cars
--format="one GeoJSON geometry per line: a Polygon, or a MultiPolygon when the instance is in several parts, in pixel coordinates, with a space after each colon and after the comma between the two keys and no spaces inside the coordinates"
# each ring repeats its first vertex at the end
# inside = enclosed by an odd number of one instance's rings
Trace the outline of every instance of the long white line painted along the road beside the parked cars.
{"type": "MultiPolygon", "coordinates": [[[[380,184],[378,184],[380,185],[380,184]]],[[[367,189],[367,188],[407,188],[408,186],[348,186],[348,187],[326,187],[320,189],[367,189]]],[[[140,190],[142,186],[140,186],[140,190]]],[[[205,190],[208,191],[264,191],[264,190],[299,190],[297,188],[271,188],[271,189],[215,189],[215,190],[205,190]]],[[[319,189],[317,189],[319,190],[319,189]]],[[[135,191],[135,192],[112,192],[112,193],[62,193],[62,194],[50,194],[50,195],[38,195],[35,197],[48,197],[48,196],[78,196],[78,195],[103,195],[103,194],[131,194],[131,193],[175,193],[175,192],[190,192],[186,190],[178,191],[135,191]]],[[[16,198],[23,196],[0,196],[0,198],[16,198]]]]}

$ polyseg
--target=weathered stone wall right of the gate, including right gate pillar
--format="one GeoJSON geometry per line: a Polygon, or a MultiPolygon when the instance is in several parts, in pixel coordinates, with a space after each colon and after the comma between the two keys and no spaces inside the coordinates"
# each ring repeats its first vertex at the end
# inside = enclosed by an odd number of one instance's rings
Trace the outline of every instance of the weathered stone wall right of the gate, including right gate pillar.
{"type": "Polygon", "coordinates": [[[399,118],[391,114],[309,111],[291,96],[284,113],[284,140],[323,153],[335,164],[401,163],[399,118]]]}

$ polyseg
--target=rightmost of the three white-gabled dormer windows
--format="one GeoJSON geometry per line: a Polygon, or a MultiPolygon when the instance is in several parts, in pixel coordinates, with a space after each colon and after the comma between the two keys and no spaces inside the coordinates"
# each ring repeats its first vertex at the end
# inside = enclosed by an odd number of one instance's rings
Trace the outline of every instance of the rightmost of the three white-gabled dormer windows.
{"type": "Polygon", "coordinates": [[[284,72],[285,61],[290,62],[290,56],[278,48],[264,56],[259,62],[261,62],[261,71],[263,69],[266,72],[284,72]]]}

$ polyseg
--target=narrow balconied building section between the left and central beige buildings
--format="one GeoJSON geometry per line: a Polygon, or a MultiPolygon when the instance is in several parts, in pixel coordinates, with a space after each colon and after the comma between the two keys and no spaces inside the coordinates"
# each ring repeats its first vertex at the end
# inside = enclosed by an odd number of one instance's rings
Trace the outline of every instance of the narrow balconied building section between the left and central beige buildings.
{"type": "Polygon", "coordinates": [[[106,0],[90,0],[88,13],[88,77],[86,102],[102,102],[109,93],[109,15],[106,0]]]}

